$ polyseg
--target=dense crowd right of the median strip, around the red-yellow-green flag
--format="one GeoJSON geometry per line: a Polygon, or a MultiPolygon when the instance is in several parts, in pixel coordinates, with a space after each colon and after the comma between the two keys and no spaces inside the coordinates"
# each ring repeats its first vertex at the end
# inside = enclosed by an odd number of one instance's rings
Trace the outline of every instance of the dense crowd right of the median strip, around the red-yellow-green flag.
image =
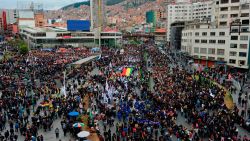
{"type": "MultiPolygon", "coordinates": [[[[140,48],[127,48],[137,60],[140,53],[136,52],[140,48]]],[[[242,117],[237,107],[227,109],[223,88],[204,79],[204,72],[189,74],[178,65],[176,68],[168,67],[177,61],[170,53],[163,55],[150,45],[147,50],[152,58],[153,71],[144,71],[144,79],[153,78],[155,85],[152,91],[149,91],[147,83],[141,81],[141,62],[134,64],[131,76],[112,75],[116,74],[114,70],[131,67],[123,59],[131,59],[129,52],[112,55],[110,63],[107,61],[105,65],[99,65],[101,70],[108,70],[103,77],[95,79],[103,90],[94,98],[100,114],[105,115],[101,123],[106,140],[171,140],[172,135],[177,140],[248,140],[247,136],[238,136],[236,124],[242,124],[242,117]],[[169,73],[170,69],[174,73],[169,73]],[[178,124],[178,114],[192,125],[190,129],[178,124]]]]}

